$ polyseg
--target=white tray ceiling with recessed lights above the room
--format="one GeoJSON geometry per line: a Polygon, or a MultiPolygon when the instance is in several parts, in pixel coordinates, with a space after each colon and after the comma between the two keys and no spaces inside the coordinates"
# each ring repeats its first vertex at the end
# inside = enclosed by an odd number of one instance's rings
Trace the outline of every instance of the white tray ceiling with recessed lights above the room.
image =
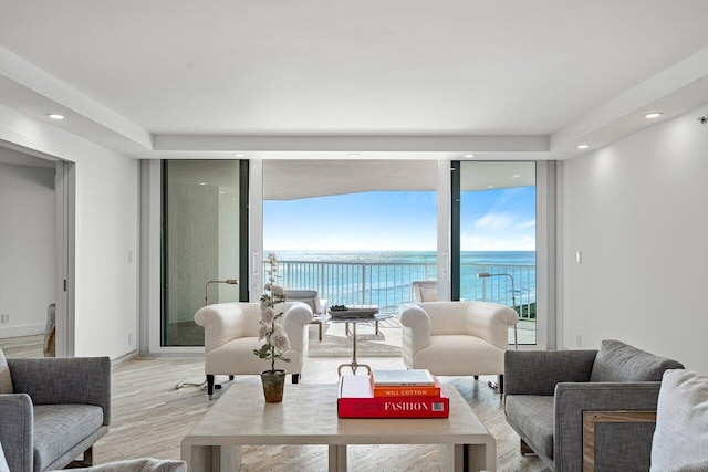
{"type": "Polygon", "coordinates": [[[0,11],[0,103],[134,157],[564,159],[708,103],[705,0],[0,11]]]}

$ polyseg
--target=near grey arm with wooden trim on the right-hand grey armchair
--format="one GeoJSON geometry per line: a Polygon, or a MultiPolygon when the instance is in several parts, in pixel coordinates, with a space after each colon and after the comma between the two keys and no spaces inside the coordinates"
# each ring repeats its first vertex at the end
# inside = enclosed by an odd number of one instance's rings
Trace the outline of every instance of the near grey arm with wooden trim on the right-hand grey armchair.
{"type": "MultiPolygon", "coordinates": [[[[656,410],[658,381],[561,382],[555,387],[553,461],[558,470],[583,465],[583,411],[656,410]]],[[[655,423],[605,424],[595,430],[596,470],[648,470],[655,423]]]]}

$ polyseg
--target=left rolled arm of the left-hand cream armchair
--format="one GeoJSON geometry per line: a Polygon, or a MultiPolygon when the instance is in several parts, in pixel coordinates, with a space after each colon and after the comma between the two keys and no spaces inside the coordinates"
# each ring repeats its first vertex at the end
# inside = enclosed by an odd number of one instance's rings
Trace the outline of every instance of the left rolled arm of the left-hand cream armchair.
{"type": "Polygon", "coordinates": [[[219,303],[207,305],[195,313],[195,323],[204,327],[205,352],[210,352],[223,343],[246,336],[246,307],[253,305],[260,319],[260,304],[219,303]]]}

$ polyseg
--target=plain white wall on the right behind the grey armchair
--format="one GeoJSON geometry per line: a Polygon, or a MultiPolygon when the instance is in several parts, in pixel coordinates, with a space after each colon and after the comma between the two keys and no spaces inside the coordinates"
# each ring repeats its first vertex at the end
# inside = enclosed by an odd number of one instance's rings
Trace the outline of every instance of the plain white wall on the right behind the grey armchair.
{"type": "Polygon", "coordinates": [[[615,338],[708,374],[704,113],[563,164],[564,347],[615,338]]]}

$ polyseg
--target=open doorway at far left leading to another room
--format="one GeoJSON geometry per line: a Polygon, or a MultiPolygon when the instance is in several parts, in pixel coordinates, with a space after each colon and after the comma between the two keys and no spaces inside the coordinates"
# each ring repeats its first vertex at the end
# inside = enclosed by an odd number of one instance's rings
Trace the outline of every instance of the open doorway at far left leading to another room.
{"type": "Polygon", "coordinates": [[[73,165],[0,144],[0,347],[8,356],[73,355],[73,165]]]}

